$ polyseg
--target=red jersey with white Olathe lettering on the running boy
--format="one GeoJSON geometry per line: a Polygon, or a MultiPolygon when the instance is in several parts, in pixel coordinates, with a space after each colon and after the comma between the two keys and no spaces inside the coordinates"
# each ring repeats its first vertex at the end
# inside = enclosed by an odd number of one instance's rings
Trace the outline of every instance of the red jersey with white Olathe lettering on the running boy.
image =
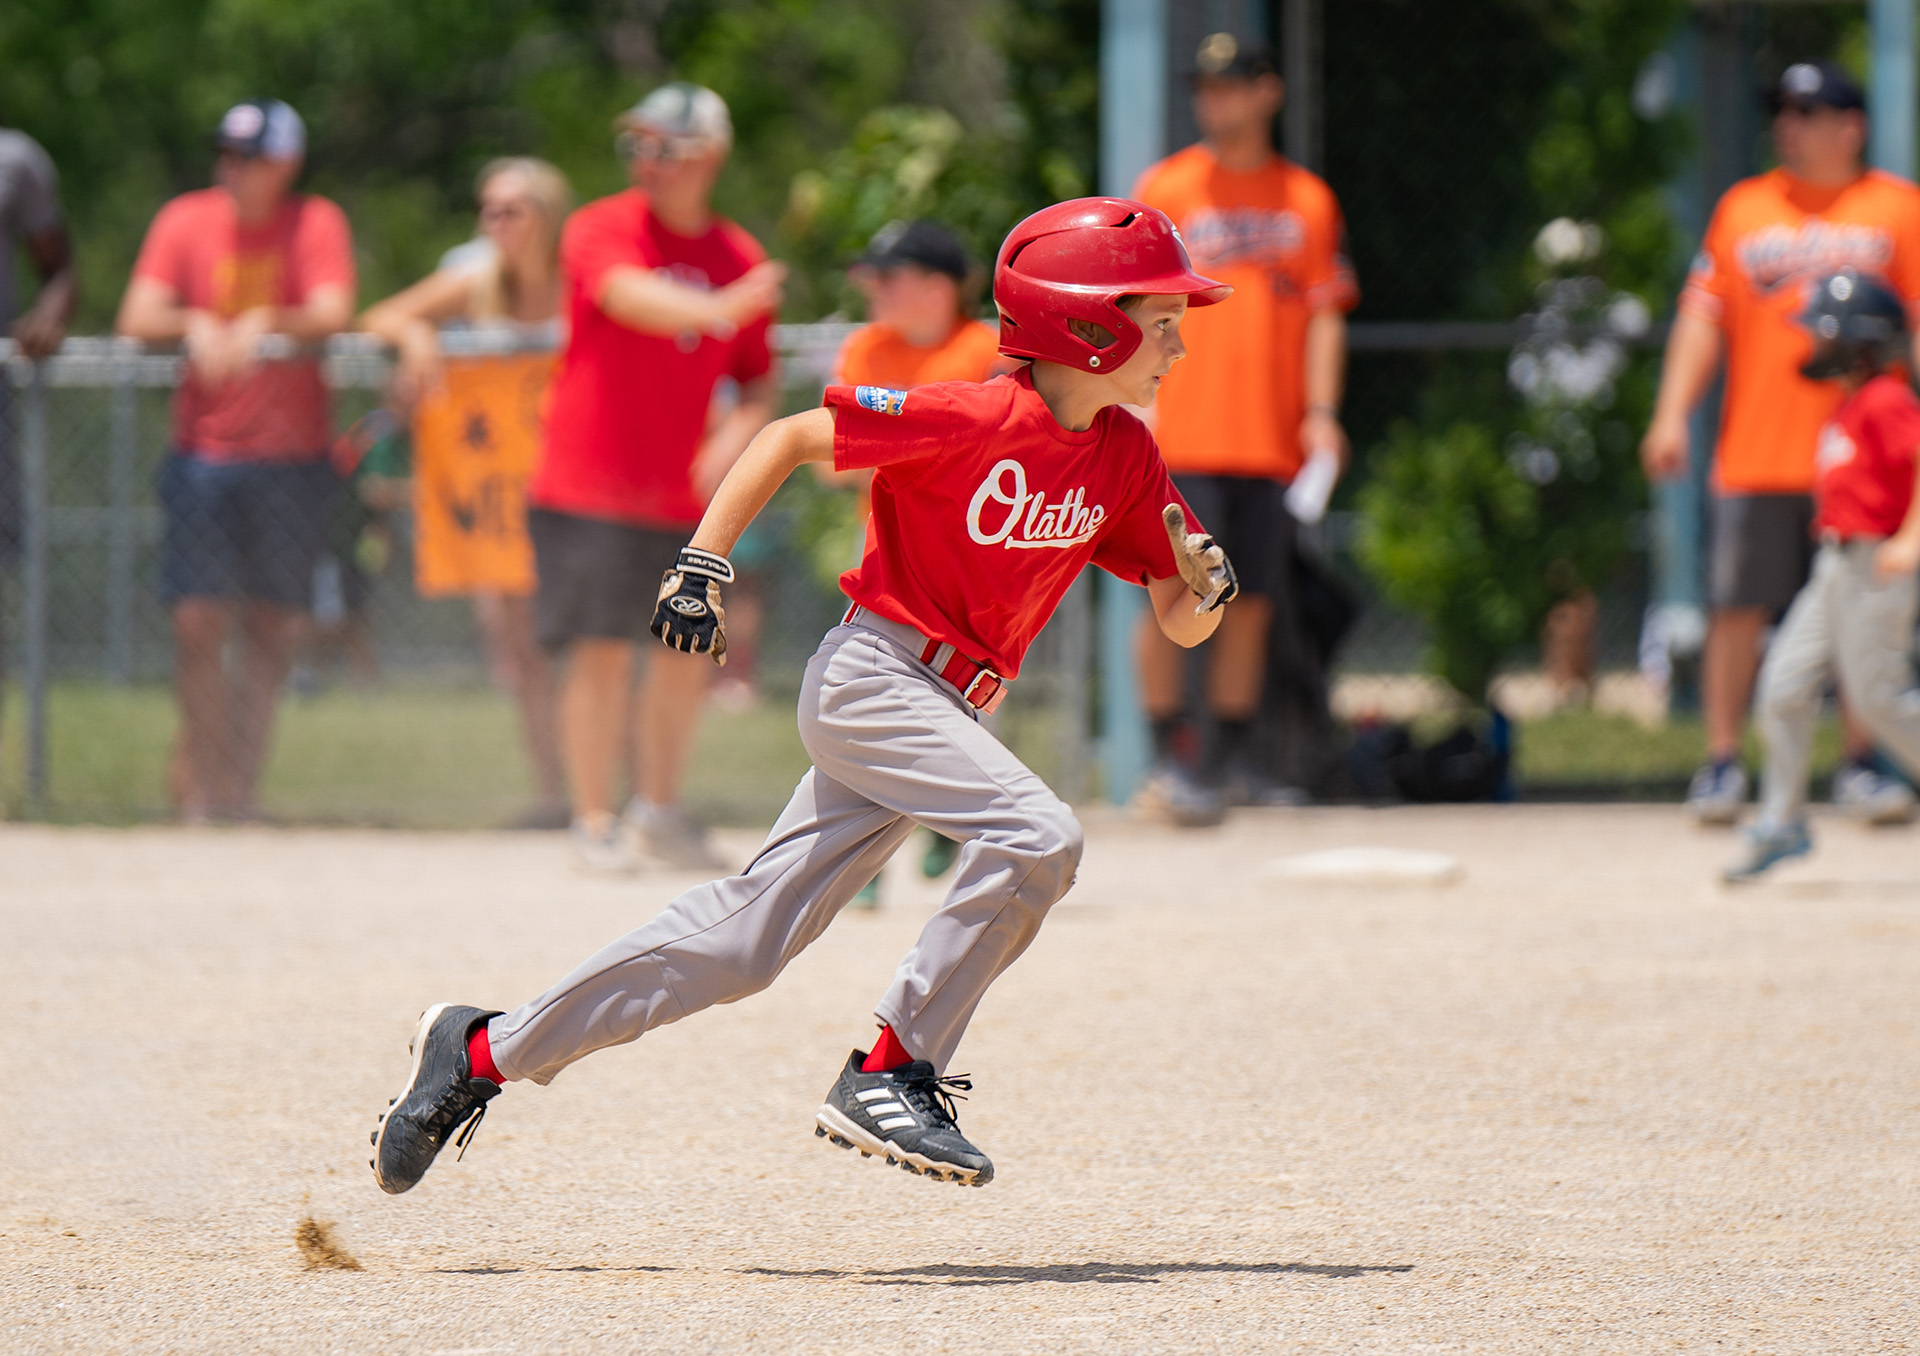
{"type": "Polygon", "coordinates": [[[828,386],[826,405],[833,469],[874,469],[866,557],[841,590],[1004,678],[1089,561],[1129,584],[1177,572],[1160,511],[1187,501],[1123,409],[1062,428],[1025,367],[985,386],[828,386]]]}

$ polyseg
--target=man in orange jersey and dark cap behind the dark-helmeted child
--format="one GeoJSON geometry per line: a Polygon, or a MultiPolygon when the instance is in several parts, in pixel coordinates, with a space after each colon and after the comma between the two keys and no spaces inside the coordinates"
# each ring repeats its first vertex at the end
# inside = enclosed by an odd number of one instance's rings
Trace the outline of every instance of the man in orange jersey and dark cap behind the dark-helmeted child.
{"type": "MultiPolygon", "coordinates": [[[[1855,269],[1908,305],[1920,298],[1920,188],[1862,167],[1859,85],[1837,65],[1801,61],[1786,69],[1770,102],[1780,167],[1734,184],[1715,207],[1640,446],[1649,478],[1686,474],[1688,415],[1724,359],[1701,670],[1707,764],[1688,791],[1705,824],[1732,824],[1747,799],[1740,738],[1761,640],[1812,559],[1814,448],[1839,392],[1799,375],[1811,344],[1795,325],[1807,286],[1855,269]]],[[[1907,818],[1912,793],[1874,770],[1872,739],[1851,718],[1847,755],[1836,801],[1864,818],[1907,818]]]]}

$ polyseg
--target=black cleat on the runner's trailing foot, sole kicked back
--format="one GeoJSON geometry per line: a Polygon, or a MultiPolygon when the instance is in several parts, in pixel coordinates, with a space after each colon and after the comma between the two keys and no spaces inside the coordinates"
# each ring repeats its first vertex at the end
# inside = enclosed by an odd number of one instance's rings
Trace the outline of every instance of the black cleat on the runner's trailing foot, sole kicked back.
{"type": "Polygon", "coordinates": [[[413,1033],[413,1074],[399,1097],[390,1101],[372,1131],[372,1177],[380,1191],[397,1197],[407,1191],[453,1139],[467,1152],[467,1141],[480,1127],[486,1104],[499,1097],[499,1083],[474,1078],[467,1062],[467,1039],[474,1028],[499,1012],[436,1003],[420,1014],[413,1033]],[[461,1129],[465,1126],[465,1131],[461,1129]]]}

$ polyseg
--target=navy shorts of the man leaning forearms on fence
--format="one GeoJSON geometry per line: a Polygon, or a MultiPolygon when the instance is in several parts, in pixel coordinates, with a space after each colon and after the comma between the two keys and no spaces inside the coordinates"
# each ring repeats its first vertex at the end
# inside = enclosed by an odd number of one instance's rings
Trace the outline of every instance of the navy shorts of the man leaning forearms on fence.
{"type": "Polygon", "coordinates": [[[305,611],[338,496],[324,457],[209,461],[169,451],[159,465],[159,601],[246,597],[305,611]]]}

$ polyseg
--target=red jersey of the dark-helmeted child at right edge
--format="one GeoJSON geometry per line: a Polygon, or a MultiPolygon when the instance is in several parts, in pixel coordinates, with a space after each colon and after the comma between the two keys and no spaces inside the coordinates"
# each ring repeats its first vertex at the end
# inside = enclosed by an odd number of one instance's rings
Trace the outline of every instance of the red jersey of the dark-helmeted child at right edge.
{"type": "Polygon", "coordinates": [[[1914,499],[1920,400],[1905,376],[1876,376],[1820,430],[1814,457],[1816,530],[1893,536],[1914,499]]]}

